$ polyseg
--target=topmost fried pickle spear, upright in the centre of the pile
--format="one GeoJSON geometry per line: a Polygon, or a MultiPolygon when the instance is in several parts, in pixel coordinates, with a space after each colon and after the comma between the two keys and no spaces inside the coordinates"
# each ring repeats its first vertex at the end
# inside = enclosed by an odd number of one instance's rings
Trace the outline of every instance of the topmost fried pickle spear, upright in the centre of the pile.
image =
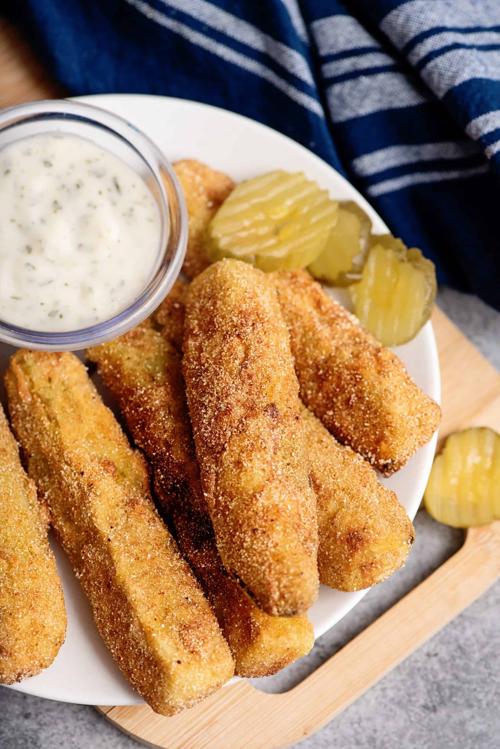
{"type": "Polygon", "coordinates": [[[316,497],[287,328],[265,273],[235,260],[189,287],[183,374],[225,568],[273,616],[317,597],[316,497]]]}

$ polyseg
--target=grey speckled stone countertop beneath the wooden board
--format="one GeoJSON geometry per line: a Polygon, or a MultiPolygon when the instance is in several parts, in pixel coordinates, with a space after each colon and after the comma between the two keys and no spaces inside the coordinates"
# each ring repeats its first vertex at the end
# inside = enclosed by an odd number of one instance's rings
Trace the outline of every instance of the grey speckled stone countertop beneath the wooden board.
{"type": "MultiPolygon", "coordinates": [[[[500,370],[500,314],[475,297],[439,291],[441,309],[500,370]]],[[[369,592],[312,652],[265,691],[299,682],[451,556],[461,531],[415,518],[405,567],[369,592]]],[[[414,655],[371,688],[303,749],[498,749],[500,747],[500,580],[414,655]]],[[[55,703],[0,688],[0,749],[133,749],[88,706],[55,703]]]]}

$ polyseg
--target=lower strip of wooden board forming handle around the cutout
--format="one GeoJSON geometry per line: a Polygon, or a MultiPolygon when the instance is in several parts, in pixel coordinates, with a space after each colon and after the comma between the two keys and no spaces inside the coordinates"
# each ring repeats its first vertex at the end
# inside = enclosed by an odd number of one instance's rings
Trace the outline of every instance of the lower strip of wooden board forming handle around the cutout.
{"type": "Polygon", "coordinates": [[[242,680],[173,718],[147,706],[97,708],[162,749],[278,749],[311,736],[463,611],[500,576],[500,522],[471,528],[427,580],[284,694],[242,680]]]}

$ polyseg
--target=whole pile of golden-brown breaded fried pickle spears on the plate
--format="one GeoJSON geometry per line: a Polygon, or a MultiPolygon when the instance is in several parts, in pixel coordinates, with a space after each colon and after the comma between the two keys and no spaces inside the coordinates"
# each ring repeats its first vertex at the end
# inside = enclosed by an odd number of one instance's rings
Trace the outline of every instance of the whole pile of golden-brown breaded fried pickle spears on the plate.
{"type": "Polygon", "coordinates": [[[209,265],[204,234],[234,184],[175,169],[192,282],[86,352],[135,446],[73,354],[18,351],[4,376],[26,473],[0,412],[0,683],[64,640],[50,521],[116,663],[162,715],[305,655],[319,583],[360,590],[403,564],[412,523],[374,469],[402,467],[440,418],[306,271],[209,265]]]}

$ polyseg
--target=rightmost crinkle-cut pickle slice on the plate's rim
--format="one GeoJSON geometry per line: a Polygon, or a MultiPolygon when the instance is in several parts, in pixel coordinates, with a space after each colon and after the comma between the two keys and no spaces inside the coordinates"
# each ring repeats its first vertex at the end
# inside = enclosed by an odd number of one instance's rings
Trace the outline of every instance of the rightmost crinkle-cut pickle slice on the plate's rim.
{"type": "Polygon", "coordinates": [[[436,298],[434,264],[416,247],[400,244],[397,249],[382,243],[373,246],[361,281],[349,287],[354,312],[384,346],[415,338],[430,318],[436,298]]]}

